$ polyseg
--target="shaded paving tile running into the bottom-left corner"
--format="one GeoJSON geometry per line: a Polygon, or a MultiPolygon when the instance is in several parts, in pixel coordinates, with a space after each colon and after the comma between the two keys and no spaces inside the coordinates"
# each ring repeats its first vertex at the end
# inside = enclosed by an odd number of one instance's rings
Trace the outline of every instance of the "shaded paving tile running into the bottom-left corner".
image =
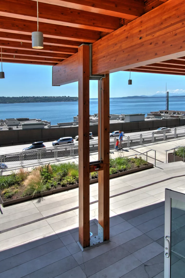
{"type": "MultiPolygon", "coordinates": [[[[49,252],[45,255],[42,255],[36,259],[30,260],[24,264],[18,265],[16,267],[13,267],[9,270],[6,270],[1,273],[1,278],[5,277],[23,277],[28,274],[31,274],[32,272],[35,272],[36,270],[42,269],[43,267],[46,267],[47,265],[51,265],[54,262],[57,262],[61,259],[64,259],[68,256],[70,256],[70,252],[68,249],[64,246],[62,248],[59,248],[57,250],[54,250],[52,252],[49,252]]],[[[47,273],[45,273],[44,277],[47,273]]],[[[55,275],[56,276],[56,275],[55,275]]],[[[37,277],[36,275],[34,277],[37,277]]],[[[42,277],[42,276],[41,276],[42,277]]]]}

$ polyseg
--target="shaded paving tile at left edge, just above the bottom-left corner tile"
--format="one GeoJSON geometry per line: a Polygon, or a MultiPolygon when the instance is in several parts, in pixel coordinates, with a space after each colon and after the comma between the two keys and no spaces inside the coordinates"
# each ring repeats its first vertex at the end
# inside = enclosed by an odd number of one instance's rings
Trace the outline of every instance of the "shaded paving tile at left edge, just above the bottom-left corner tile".
{"type": "Polygon", "coordinates": [[[25,262],[28,262],[29,260],[38,258],[44,254],[52,252],[53,250],[59,249],[63,246],[64,246],[64,244],[58,238],[58,239],[52,240],[50,242],[47,242],[45,244],[34,247],[25,252],[22,252],[21,254],[17,254],[10,258],[1,260],[0,261],[0,272],[4,272],[8,269],[16,267],[17,265],[24,264],[25,262]]]}

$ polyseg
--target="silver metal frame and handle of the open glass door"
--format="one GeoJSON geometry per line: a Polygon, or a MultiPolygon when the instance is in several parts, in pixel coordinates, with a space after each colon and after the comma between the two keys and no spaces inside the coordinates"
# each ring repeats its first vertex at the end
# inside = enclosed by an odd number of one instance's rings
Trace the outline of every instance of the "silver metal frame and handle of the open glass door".
{"type": "Polygon", "coordinates": [[[164,227],[164,278],[170,278],[171,261],[171,199],[185,202],[185,194],[165,189],[165,227],[164,227]]]}

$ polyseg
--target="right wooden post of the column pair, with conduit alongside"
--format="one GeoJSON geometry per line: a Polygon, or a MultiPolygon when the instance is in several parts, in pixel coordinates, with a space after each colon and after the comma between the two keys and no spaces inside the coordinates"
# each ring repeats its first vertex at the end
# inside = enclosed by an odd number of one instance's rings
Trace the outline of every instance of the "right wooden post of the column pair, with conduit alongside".
{"type": "Polygon", "coordinates": [[[98,151],[99,160],[102,159],[103,162],[103,170],[98,172],[98,235],[102,241],[109,239],[109,115],[107,74],[98,81],[98,151]]]}

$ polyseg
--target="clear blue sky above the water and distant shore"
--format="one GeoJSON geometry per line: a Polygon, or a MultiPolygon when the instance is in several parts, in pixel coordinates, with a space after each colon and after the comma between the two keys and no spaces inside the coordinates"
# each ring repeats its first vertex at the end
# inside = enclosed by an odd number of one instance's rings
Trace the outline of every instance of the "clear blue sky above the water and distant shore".
{"type": "MultiPolygon", "coordinates": [[[[78,83],[52,87],[52,67],[3,63],[5,79],[0,80],[0,96],[78,96],[78,83]]],[[[185,95],[185,77],[131,72],[110,74],[110,97],[154,95],[167,90],[185,95]]],[[[90,98],[97,98],[97,81],[90,81],[90,98]]]]}

